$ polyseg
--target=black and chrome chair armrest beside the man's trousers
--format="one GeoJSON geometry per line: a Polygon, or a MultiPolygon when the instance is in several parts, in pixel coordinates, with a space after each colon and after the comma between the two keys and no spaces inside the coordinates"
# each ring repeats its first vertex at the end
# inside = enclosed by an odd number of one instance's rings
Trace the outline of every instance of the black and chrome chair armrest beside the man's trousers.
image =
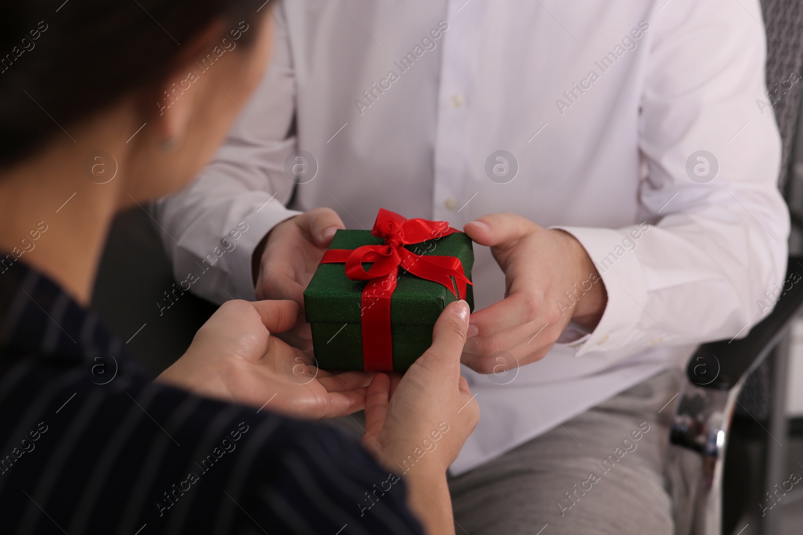
{"type": "Polygon", "coordinates": [[[675,533],[719,535],[725,448],[748,375],[785,339],[803,308],[803,257],[790,257],[772,313],[740,340],[703,344],[691,355],[670,427],[666,477],[675,533]]]}

